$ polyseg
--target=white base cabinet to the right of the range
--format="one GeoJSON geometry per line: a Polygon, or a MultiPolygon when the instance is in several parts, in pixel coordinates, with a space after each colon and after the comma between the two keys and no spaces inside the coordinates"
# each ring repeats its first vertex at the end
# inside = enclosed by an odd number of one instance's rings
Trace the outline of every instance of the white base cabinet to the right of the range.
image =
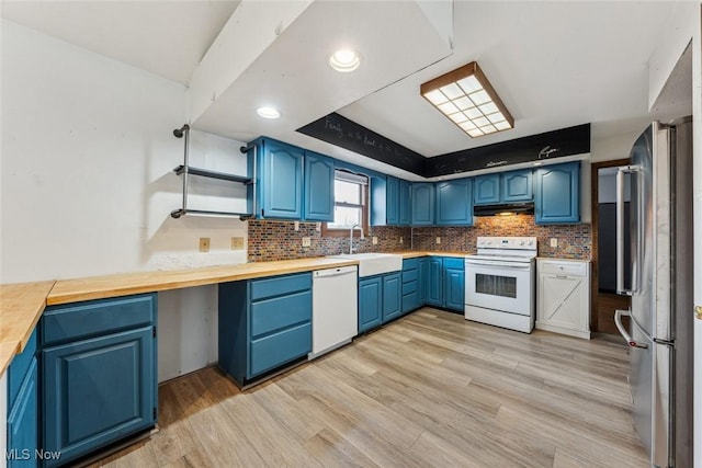
{"type": "Polygon", "coordinates": [[[536,260],[536,329],[590,339],[590,262],[536,260]]]}

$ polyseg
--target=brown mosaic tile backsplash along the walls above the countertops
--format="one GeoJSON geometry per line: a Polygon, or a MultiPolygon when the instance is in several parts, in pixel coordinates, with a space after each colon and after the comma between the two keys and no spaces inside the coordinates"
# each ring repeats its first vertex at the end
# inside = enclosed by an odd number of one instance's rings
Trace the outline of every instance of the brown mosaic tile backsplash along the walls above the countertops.
{"type": "MultiPolygon", "coordinates": [[[[288,260],[333,255],[349,251],[349,238],[321,237],[316,222],[250,220],[249,262],[288,260]],[[310,238],[310,247],[302,247],[302,238],[310,238]]],[[[589,224],[536,226],[533,215],[476,217],[472,227],[372,227],[364,240],[354,239],[359,252],[389,252],[396,250],[431,250],[475,253],[479,236],[531,236],[539,242],[539,255],[559,259],[591,259],[592,229],[589,224]],[[372,237],[378,243],[373,246],[372,237]],[[404,242],[400,243],[399,239],[404,242]],[[437,243],[437,238],[441,243],[437,243]],[[411,239],[410,239],[411,238],[411,239]],[[551,247],[551,239],[558,247],[551,247]]]]}

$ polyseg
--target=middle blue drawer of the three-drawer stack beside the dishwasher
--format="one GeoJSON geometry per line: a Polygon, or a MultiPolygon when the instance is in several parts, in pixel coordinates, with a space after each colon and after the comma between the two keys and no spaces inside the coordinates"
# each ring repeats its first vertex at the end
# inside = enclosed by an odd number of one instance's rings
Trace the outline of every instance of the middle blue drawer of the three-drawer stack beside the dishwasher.
{"type": "Polygon", "coordinates": [[[312,293],[309,290],[251,304],[252,338],[310,320],[312,293]]]}

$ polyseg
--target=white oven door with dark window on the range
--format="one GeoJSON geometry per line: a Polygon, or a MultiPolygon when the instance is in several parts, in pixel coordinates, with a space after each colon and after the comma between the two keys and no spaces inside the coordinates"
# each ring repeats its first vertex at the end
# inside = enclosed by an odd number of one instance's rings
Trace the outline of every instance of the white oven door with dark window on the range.
{"type": "Polygon", "coordinates": [[[531,315],[531,263],[466,259],[465,304],[531,315]]]}

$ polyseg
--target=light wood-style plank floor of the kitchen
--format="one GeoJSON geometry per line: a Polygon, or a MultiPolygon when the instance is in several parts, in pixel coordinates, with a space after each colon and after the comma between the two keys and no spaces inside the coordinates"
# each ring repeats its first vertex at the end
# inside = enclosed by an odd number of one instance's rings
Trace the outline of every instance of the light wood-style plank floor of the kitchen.
{"type": "Polygon", "coordinates": [[[646,467],[626,349],[430,308],[240,391],[160,387],[160,432],[107,467],[646,467]]]}

